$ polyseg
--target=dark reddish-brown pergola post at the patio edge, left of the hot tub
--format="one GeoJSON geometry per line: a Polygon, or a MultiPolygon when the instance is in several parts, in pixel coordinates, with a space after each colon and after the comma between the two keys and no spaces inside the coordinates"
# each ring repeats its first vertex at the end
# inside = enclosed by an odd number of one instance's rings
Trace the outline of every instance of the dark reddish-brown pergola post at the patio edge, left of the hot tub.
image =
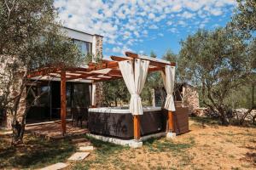
{"type": "Polygon", "coordinates": [[[66,71],[61,70],[61,131],[64,136],[66,133],[66,71]]]}

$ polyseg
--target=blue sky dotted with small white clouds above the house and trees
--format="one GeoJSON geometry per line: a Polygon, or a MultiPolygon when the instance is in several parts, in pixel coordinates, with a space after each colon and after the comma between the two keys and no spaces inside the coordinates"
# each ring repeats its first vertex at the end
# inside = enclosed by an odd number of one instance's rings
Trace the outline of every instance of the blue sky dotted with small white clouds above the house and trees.
{"type": "Polygon", "coordinates": [[[104,36],[103,54],[125,51],[161,57],[199,28],[225,26],[234,0],[55,0],[64,26],[104,36]]]}

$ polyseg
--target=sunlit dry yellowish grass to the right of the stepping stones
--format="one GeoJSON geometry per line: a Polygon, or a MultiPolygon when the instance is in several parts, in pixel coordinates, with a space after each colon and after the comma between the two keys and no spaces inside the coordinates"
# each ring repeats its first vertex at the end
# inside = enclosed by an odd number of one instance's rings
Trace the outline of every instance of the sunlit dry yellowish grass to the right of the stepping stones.
{"type": "MultiPolygon", "coordinates": [[[[176,139],[151,139],[143,148],[96,144],[98,149],[71,169],[255,169],[256,128],[223,127],[190,119],[190,132],[176,139]]],[[[92,142],[95,144],[94,142],[92,142]]],[[[100,142],[99,142],[100,143],[100,142]]]]}

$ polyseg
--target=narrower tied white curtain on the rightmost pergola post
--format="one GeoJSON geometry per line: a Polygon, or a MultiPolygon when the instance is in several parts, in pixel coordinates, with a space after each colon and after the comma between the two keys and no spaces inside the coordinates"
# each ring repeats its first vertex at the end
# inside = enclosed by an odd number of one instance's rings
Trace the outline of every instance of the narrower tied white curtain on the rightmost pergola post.
{"type": "Polygon", "coordinates": [[[167,93],[165,108],[168,111],[175,111],[174,100],[172,95],[175,80],[175,67],[171,65],[166,65],[166,74],[164,72],[161,72],[161,75],[167,93]]]}

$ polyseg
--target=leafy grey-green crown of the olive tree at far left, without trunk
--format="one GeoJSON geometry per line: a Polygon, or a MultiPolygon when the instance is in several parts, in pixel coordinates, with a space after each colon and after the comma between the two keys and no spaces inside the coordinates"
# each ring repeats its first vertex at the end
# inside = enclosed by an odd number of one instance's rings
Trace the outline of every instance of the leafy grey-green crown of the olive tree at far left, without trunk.
{"type": "Polygon", "coordinates": [[[28,69],[81,62],[78,48],[60,31],[53,0],[0,1],[0,55],[28,69]]]}

